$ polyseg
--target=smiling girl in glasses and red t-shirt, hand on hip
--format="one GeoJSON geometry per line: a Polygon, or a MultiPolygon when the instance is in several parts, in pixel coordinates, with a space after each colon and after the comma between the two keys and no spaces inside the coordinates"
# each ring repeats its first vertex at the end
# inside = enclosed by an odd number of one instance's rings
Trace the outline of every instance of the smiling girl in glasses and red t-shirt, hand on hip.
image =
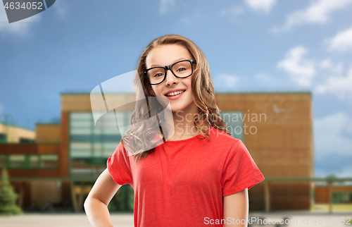
{"type": "Polygon", "coordinates": [[[134,79],[145,97],[156,97],[149,104],[168,100],[174,131],[159,126],[163,117],[149,121],[154,128],[142,121],[165,104],[134,110],[132,127],[84,202],[92,226],[112,226],[107,205],[125,184],[134,188],[134,226],[247,226],[248,189],[265,178],[219,116],[201,49],[180,35],[154,39],[134,79]]]}

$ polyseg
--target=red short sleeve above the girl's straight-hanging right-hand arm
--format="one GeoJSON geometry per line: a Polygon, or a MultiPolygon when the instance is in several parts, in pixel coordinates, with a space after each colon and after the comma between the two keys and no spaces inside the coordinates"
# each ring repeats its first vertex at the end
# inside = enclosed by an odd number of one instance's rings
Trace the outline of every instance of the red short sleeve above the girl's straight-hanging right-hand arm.
{"type": "Polygon", "coordinates": [[[232,195],[265,180],[241,140],[232,145],[222,169],[222,196],[232,195]]]}

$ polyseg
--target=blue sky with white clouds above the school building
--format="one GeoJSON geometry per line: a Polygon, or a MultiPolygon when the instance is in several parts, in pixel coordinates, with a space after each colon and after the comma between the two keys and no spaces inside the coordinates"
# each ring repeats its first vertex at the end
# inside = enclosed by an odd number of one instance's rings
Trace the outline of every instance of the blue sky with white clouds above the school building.
{"type": "Polygon", "coordinates": [[[0,121],[60,118],[61,92],[135,70],[152,39],[178,34],[206,54],[217,92],[311,91],[315,175],[351,177],[351,15],[352,0],[57,0],[8,24],[0,8],[0,121]]]}

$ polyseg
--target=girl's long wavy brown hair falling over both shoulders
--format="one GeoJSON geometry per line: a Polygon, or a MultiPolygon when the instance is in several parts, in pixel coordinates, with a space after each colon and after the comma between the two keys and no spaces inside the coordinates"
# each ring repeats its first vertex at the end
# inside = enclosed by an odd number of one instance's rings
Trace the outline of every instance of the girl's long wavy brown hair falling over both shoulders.
{"type": "MultiPolygon", "coordinates": [[[[196,67],[194,73],[191,77],[191,89],[193,94],[194,103],[198,106],[199,115],[202,116],[201,121],[194,117],[194,127],[197,129],[198,134],[202,135],[202,139],[208,137],[210,139],[210,133],[208,133],[208,125],[212,125],[214,128],[232,135],[225,124],[225,121],[220,118],[220,110],[215,101],[215,90],[213,82],[211,81],[211,73],[208,61],[206,56],[203,54],[203,51],[194,44],[191,40],[181,35],[164,35],[154,39],[147,47],[144,49],[141,54],[137,66],[137,73],[134,76],[134,86],[136,87],[137,82],[142,82],[142,89],[140,91],[136,89],[137,98],[138,97],[152,97],[151,85],[146,81],[146,78],[143,75],[143,71],[146,70],[146,57],[155,47],[168,44],[177,44],[186,49],[188,49],[192,58],[196,60],[196,67]],[[142,94],[143,93],[143,94],[142,94]],[[203,118],[205,116],[205,118],[203,118]],[[210,117],[211,116],[211,117],[210,117]],[[204,127],[204,125],[206,127],[204,127]],[[206,128],[206,129],[204,129],[206,128]]],[[[149,104],[155,101],[156,99],[148,99],[149,104]]],[[[125,140],[125,143],[122,142],[122,145],[128,150],[137,151],[137,154],[134,154],[136,162],[139,159],[147,157],[150,152],[153,151],[153,148],[156,147],[156,143],[165,141],[165,135],[163,135],[163,130],[160,126],[158,128],[150,127],[150,124],[159,125],[157,118],[150,119],[151,116],[156,116],[156,114],[163,111],[164,107],[161,104],[153,103],[155,108],[151,109],[149,106],[143,104],[142,102],[136,102],[134,111],[132,112],[132,117],[130,119],[131,128],[127,130],[125,135],[122,137],[122,140],[125,140]],[[150,122],[146,123],[143,121],[149,118],[150,122]],[[143,122],[143,123],[142,123],[143,122]],[[137,124],[138,123],[138,124],[137,124]],[[160,129],[163,140],[152,140],[153,136],[156,135],[160,129]],[[134,142],[131,142],[131,141],[134,142]],[[128,143],[126,142],[128,141],[128,143]],[[142,149],[144,152],[142,152],[142,149]]],[[[198,117],[199,118],[199,117],[198,117]]]]}

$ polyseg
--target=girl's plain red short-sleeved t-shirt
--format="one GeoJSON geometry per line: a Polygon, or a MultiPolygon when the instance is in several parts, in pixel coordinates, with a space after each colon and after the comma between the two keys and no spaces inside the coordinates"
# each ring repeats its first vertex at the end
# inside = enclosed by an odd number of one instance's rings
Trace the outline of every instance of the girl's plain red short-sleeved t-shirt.
{"type": "Polygon", "coordinates": [[[265,179],[241,140],[208,131],[210,140],[166,141],[137,164],[120,142],[107,168],[134,189],[134,226],[223,226],[210,224],[224,219],[222,197],[265,179]]]}

